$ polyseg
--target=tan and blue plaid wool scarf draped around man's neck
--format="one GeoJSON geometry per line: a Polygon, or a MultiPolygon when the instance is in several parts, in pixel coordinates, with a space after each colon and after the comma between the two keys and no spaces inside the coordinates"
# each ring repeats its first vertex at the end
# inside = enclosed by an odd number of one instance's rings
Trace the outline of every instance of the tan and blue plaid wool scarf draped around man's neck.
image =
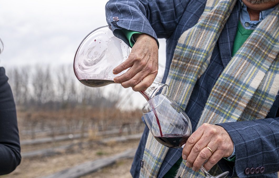
{"type": "MultiPolygon", "coordinates": [[[[208,0],[199,22],[177,43],[167,84],[169,96],[185,109],[198,78],[236,0],[208,0]]],[[[198,126],[265,118],[279,90],[279,5],[254,30],[214,85],[198,126]]],[[[140,177],[157,177],[168,148],[151,133],[145,146],[140,177]]],[[[218,168],[212,168],[213,174],[218,168]]],[[[182,161],[176,177],[204,177],[182,161]]]]}

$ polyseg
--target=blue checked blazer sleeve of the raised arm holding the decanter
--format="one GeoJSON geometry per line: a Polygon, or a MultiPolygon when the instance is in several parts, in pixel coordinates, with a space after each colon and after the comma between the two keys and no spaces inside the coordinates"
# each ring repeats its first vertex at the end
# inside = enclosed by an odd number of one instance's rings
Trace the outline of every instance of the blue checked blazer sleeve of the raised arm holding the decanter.
{"type": "MultiPolygon", "coordinates": [[[[105,6],[114,35],[129,44],[122,29],[168,38],[177,27],[189,0],[110,0],[105,6]],[[113,21],[118,17],[119,21],[113,21]]],[[[158,40],[157,40],[158,43],[158,40]]]]}

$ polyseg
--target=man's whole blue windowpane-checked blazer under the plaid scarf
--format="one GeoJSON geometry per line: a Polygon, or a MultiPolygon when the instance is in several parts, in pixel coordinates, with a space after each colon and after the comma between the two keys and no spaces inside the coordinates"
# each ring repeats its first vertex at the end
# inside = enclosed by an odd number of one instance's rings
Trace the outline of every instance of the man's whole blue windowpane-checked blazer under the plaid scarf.
{"type": "MultiPolygon", "coordinates": [[[[128,45],[129,42],[121,29],[142,32],[155,39],[167,40],[166,69],[162,81],[165,82],[180,35],[198,22],[205,4],[206,0],[110,0],[105,10],[107,22],[112,26],[114,35],[128,45]],[[119,21],[113,21],[113,17],[118,17],[119,21]]],[[[213,50],[210,65],[194,86],[186,108],[193,131],[196,129],[213,85],[231,59],[240,9],[241,4],[237,2],[213,50]]],[[[235,162],[225,159],[218,162],[223,171],[230,172],[229,177],[277,177],[276,172],[279,171],[279,117],[276,116],[278,106],[279,97],[276,98],[265,119],[218,124],[227,130],[235,146],[235,162]],[[258,174],[245,174],[247,168],[262,168],[264,171],[258,174]]],[[[131,168],[133,177],[139,177],[140,160],[143,157],[147,136],[148,128],[145,127],[131,168]]],[[[182,149],[170,148],[158,177],[163,177],[181,154],[182,149]]]]}

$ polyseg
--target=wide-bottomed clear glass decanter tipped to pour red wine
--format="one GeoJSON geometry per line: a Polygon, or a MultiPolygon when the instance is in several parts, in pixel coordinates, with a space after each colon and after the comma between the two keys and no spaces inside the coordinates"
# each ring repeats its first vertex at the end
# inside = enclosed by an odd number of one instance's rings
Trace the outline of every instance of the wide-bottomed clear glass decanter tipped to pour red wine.
{"type": "MultiPolygon", "coordinates": [[[[80,43],[74,56],[74,74],[84,85],[102,87],[113,84],[115,75],[112,70],[129,56],[129,46],[114,36],[110,26],[99,27],[90,32],[80,43]]],[[[148,101],[158,94],[167,94],[168,85],[153,82],[140,93],[148,101]]]]}

